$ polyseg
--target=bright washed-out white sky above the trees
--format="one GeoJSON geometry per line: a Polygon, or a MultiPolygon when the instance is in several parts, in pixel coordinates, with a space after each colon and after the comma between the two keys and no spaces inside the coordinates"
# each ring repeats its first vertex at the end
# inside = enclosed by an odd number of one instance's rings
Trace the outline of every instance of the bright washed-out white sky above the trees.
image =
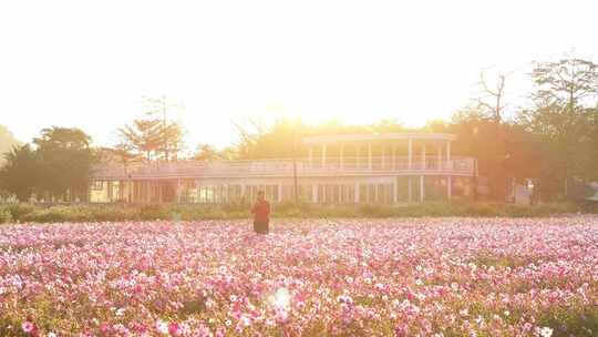
{"type": "MultiPolygon", "coordinates": [[[[481,69],[512,72],[571,49],[598,59],[597,1],[1,1],[0,124],[30,141],[79,126],[96,144],[166,94],[198,142],[231,121],[448,118],[481,69]]],[[[492,76],[491,76],[492,78],[492,76]]]]}

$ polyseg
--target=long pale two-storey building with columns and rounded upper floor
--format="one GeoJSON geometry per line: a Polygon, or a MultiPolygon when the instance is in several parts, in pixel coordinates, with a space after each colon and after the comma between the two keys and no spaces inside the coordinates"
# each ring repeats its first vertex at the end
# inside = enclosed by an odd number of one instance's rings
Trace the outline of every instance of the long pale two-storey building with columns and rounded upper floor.
{"type": "Polygon", "coordinates": [[[399,204],[468,198],[475,159],[453,156],[452,134],[339,134],[303,139],[307,157],[106,165],[92,203],[239,203],[265,191],[275,203],[399,204]],[[297,193],[295,192],[297,186],[297,193]]]}

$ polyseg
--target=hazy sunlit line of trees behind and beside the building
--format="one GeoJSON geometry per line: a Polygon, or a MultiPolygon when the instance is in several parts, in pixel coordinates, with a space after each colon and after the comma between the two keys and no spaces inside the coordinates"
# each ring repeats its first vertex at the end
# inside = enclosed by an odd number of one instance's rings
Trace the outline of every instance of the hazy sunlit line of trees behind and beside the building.
{"type": "Polygon", "coordinates": [[[84,200],[90,170],[97,161],[127,166],[138,161],[272,159],[307,155],[300,139],[309,135],[384,132],[456,134],[453,153],[474,156],[480,175],[489,182],[491,200],[504,201],[514,178],[532,178],[542,201],[581,198],[578,186],[598,181],[598,65],[575,58],[535,62],[529,70],[534,90],[526,108],[505,109],[508,75],[482,76],[474,103],[450,121],[434,120],[410,129],[389,119],[369,125],[329,122],[318,125],[279,119],[236,124],[237,141],[221,150],[198,144],[185,154],[184,127],[167,116],[165,98],[148,100],[147,112],[118,130],[112,147],[93,149],[78,129],[45,129],[32,144],[14,147],[0,170],[4,196],[28,201],[84,200]]]}

